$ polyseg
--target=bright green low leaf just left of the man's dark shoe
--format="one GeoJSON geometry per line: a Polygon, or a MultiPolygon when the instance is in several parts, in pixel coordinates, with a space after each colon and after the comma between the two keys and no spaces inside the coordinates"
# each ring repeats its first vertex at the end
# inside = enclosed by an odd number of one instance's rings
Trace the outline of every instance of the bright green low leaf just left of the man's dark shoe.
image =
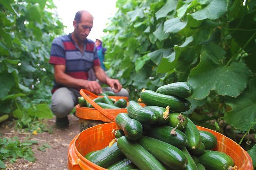
{"type": "Polygon", "coordinates": [[[43,118],[43,119],[53,118],[52,111],[50,110],[47,104],[37,104],[35,111],[33,111],[32,109],[29,109],[27,113],[31,117],[37,116],[38,118],[43,118]]]}

